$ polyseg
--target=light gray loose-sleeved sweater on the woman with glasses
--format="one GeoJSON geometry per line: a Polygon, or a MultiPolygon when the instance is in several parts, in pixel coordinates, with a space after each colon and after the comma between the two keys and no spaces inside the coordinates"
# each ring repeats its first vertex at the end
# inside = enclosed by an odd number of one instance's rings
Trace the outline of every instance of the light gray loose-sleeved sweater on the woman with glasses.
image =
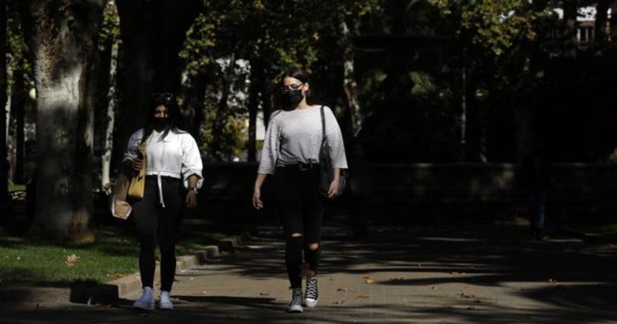
{"type": "MultiPolygon", "coordinates": [[[[273,174],[275,167],[296,163],[318,163],[321,147],[321,106],[272,114],[257,173],[273,174]]],[[[347,168],[341,128],[332,110],[325,106],[326,135],[334,168],[347,168]]]]}

